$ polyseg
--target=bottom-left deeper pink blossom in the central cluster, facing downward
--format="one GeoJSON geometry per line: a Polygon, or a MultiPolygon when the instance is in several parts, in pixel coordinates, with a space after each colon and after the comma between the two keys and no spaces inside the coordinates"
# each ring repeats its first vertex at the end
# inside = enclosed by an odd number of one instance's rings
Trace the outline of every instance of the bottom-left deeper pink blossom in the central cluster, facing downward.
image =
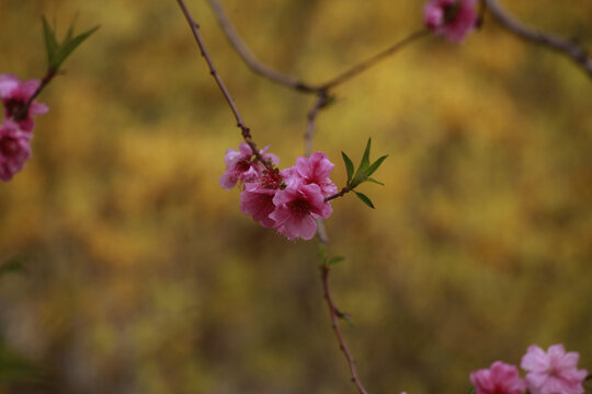
{"type": "Polygon", "coordinates": [[[244,184],[244,190],[240,194],[240,211],[251,216],[264,228],[271,228],[275,220],[270,213],[275,210],[273,197],[282,187],[283,178],[278,172],[263,170],[255,182],[244,184]]]}

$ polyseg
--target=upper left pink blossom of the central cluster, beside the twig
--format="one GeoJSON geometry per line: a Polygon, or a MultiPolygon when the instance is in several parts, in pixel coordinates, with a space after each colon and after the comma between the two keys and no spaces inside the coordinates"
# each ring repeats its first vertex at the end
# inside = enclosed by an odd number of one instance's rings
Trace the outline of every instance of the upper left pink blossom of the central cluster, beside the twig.
{"type": "MultiPolygon", "coordinates": [[[[260,150],[259,153],[263,160],[271,160],[273,164],[280,163],[275,154],[266,153],[269,147],[260,150]]],[[[239,144],[239,150],[227,149],[224,157],[226,172],[220,176],[220,186],[225,189],[231,189],[238,182],[253,182],[263,171],[263,164],[255,161],[253,151],[247,142],[239,144]]]]}

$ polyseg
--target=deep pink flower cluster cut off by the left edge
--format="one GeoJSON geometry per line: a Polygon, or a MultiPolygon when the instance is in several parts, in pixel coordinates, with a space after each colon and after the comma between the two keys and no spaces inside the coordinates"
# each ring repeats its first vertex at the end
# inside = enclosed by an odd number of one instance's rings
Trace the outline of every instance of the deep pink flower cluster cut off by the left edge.
{"type": "Polygon", "coordinates": [[[21,82],[11,73],[0,74],[0,100],[4,106],[0,126],[0,179],[4,182],[12,179],[31,157],[33,116],[48,111],[45,104],[31,101],[39,84],[38,80],[21,82]]]}

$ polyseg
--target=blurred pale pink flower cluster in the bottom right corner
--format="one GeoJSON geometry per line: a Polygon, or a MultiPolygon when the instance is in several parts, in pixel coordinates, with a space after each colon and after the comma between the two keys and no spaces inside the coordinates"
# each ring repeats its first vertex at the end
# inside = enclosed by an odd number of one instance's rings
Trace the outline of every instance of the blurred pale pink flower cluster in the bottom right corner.
{"type": "Polygon", "coordinates": [[[521,368],[526,371],[520,378],[515,366],[496,361],[489,369],[470,374],[477,394],[582,394],[588,372],[578,370],[580,355],[566,352],[563,345],[553,345],[545,352],[536,345],[528,347],[522,357],[521,368]]]}

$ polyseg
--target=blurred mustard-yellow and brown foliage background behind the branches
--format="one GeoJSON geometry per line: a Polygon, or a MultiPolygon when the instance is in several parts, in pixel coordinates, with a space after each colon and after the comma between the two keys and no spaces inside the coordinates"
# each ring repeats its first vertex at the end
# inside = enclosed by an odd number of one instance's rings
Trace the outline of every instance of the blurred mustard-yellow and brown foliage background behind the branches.
{"type": "MultiPolygon", "coordinates": [[[[506,1],[592,48],[592,2],[506,1]]],[[[262,60],[323,82],[421,25],[417,0],[224,0],[262,60]]],[[[187,1],[255,141],[304,150],[314,97],[251,73],[187,1]]],[[[41,78],[41,16],[100,31],[43,92],[33,158],[0,185],[0,393],[354,393],[315,242],[218,186],[240,142],[175,1],[0,0],[0,72],[41,78]],[[4,360],[4,361],[2,361],[4,360]],[[21,364],[19,364],[21,362],[21,364]],[[31,364],[29,364],[32,363],[31,364]],[[21,367],[19,367],[21,366],[21,367]],[[16,382],[15,382],[16,381],[16,382]]],[[[592,83],[490,18],[340,86],[315,148],[357,162],[377,209],[333,202],[335,302],[371,393],[466,393],[468,374],[563,343],[592,369],[592,83]]]]}

